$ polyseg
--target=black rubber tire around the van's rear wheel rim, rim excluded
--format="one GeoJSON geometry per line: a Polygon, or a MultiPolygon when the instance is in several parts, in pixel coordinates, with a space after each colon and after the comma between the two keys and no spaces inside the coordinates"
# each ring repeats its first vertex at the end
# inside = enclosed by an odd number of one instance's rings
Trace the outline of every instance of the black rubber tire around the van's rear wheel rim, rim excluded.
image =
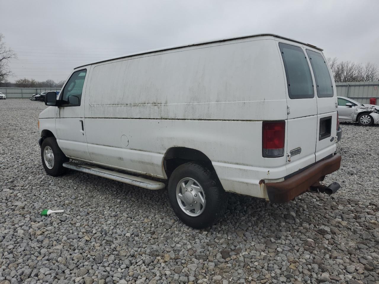
{"type": "Polygon", "coordinates": [[[172,172],[168,183],[168,195],[172,209],[178,218],[195,229],[211,227],[224,215],[227,208],[227,194],[216,173],[195,162],[182,164],[172,172]],[[205,193],[205,206],[200,215],[188,215],[177,200],[177,186],[183,178],[194,179],[205,193]]]}

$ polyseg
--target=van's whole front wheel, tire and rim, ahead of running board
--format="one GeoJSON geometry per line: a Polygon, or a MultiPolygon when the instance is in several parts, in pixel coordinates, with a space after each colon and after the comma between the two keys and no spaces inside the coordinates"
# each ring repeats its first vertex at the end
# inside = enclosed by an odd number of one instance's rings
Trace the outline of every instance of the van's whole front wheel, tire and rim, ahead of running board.
{"type": "Polygon", "coordinates": [[[44,165],[44,169],[49,175],[60,176],[67,172],[67,169],[63,167],[63,163],[68,162],[69,158],[63,154],[58,143],[56,143],[55,137],[47,137],[42,142],[41,159],[42,165],[44,165]]]}

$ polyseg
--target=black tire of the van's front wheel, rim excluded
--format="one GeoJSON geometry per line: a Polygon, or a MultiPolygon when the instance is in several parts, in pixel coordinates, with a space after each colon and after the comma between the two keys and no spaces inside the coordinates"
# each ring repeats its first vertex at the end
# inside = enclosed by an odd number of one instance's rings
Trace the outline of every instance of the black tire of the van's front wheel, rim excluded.
{"type": "Polygon", "coordinates": [[[62,150],[59,148],[58,144],[56,143],[55,137],[47,137],[44,139],[41,145],[41,159],[42,159],[42,165],[44,165],[45,171],[51,175],[51,176],[60,176],[67,172],[67,168],[63,167],[64,162],[68,162],[69,158],[67,158],[62,150]],[[49,169],[49,166],[46,164],[44,159],[44,150],[46,147],[50,147],[50,149],[53,152],[54,162],[50,166],[52,166],[51,169],[49,169]]]}

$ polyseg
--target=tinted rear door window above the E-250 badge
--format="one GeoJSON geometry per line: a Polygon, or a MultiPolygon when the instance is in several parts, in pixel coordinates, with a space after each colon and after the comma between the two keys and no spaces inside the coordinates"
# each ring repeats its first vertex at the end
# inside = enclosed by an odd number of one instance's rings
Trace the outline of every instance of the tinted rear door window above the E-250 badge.
{"type": "Polygon", "coordinates": [[[294,45],[279,43],[287,77],[288,96],[296,98],[315,97],[313,80],[304,51],[294,45]]]}

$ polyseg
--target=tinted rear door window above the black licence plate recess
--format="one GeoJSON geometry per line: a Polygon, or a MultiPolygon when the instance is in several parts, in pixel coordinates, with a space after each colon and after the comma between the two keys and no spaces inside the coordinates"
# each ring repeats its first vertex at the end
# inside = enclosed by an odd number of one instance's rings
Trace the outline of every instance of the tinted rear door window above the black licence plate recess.
{"type": "Polygon", "coordinates": [[[315,75],[317,97],[333,97],[333,84],[330,78],[329,69],[321,53],[307,49],[310,64],[312,65],[313,75],[315,75]]]}

